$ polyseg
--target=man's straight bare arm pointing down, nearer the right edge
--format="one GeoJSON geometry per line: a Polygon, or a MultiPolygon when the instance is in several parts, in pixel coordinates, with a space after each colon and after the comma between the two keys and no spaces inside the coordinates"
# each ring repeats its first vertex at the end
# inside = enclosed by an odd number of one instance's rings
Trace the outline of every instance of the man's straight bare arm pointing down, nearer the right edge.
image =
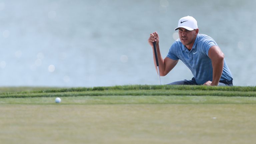
{"type": "Polygon", "coordinates": [[[224,54],[218,46],[212,46],[208,52],[209,58],[212,60],[212,82],[208,81],[204,85],[217,86],[222,75],[224,67],[224,54]]]}

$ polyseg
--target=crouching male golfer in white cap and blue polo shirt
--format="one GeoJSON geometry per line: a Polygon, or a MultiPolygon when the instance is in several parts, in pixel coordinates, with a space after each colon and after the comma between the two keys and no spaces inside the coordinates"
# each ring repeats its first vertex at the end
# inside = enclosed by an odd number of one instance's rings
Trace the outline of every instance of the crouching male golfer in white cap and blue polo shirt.
{"type": "MultiPolygon", "coordinates": [[[[167,75],[178,60],[181,60],[194,76],[191,80],[176,81],[169,85],[233,86],[232,74],[224,54],[211,37],[198,33],[197,21],[193,17],[181,18],[175,30],[179,31],[179,39],[171,45],[165,59],[160,54],[158,33],[151,33],[148,39],[152,48],[153,42],[156,42],[160,76],[167,75]]],[[[156,67],[155,56],[154,63],[156,67]]]]}

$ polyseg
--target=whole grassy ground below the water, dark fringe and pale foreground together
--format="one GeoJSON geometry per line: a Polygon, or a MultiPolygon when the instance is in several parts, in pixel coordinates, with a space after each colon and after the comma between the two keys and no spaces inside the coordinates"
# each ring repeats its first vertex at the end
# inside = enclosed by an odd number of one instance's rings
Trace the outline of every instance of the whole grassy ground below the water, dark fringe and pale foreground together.
{"type": "Polygon", "coordinates": [[[255,87],[0,88],[2,144],[251,144],[255,87]],[[60,97],[62,102],[55,103],[60,97]]]}

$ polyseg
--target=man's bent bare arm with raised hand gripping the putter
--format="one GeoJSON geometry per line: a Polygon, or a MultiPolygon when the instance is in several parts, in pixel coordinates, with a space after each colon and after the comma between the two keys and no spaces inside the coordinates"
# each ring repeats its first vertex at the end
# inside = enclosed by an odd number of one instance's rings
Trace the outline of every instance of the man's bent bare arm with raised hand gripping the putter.
{"type": "Polygon", "coordinates": [[[160,48],[159,48],[159,36],[157,32],[151,33],[150,37],[148,39],[149,45],[152,47],[153,50],[153,58],[154,58],[154,64],[155,68],[157,71],[157,66],[156,66],[156,60],[155,60],[155,55],[154,55],[154,46],[153,42],[156,42],[156,51],[157,51],[157,57],[158,57],[158,63],[159,63],[159,73],[160,76],[165,76],[167,75],[178,63],[178,60],[173,60],[170,58],[165,58],[163,59],[160,53],[160,48]]]}

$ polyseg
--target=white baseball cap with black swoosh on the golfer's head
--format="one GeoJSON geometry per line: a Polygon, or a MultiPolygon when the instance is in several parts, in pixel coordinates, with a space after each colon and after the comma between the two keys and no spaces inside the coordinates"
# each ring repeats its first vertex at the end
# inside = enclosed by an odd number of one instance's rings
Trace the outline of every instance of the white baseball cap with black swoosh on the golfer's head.
{"type": "Polygon", "coordinates": [[[185,28],[189,31],[192,31],[194,29],[198,29],[197,21],[192,16],[183,17],[179,20],[178,27],[175,30],[177,30],[179,28],[185,28]]]}

